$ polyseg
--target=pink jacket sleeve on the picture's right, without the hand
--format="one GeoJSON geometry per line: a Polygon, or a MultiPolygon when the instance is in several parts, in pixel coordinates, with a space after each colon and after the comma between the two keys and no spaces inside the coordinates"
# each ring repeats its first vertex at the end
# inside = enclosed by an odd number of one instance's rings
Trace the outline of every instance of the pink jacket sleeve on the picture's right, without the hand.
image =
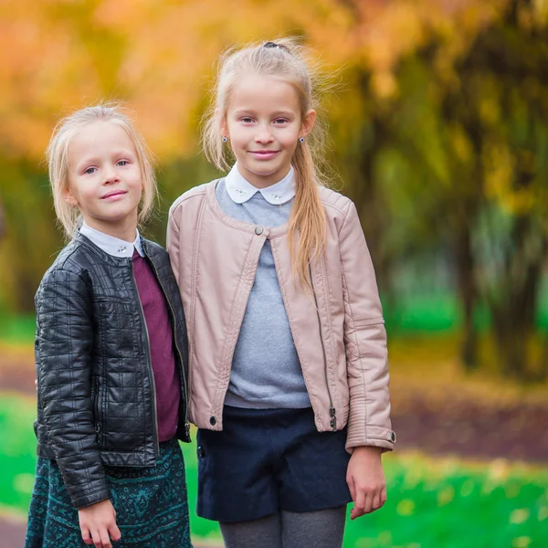
{"type": "Polygon", "coordinates": [[[394,448],[385,321],[364,231],[350,202],[340,232],[350,417],[346,448],[394,448]]]}

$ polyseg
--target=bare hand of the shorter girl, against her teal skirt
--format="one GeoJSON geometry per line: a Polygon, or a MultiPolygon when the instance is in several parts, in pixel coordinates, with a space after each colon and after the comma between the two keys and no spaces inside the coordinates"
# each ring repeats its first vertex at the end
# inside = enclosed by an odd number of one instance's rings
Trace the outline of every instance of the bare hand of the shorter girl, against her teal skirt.
{"type": "Polygon", "coordinates": [[[112,548],[111,539],[121,539],[116,511],[108,499],[80,508],[78,516],[84,543],[93,544],[95,548],[112,548]]]}

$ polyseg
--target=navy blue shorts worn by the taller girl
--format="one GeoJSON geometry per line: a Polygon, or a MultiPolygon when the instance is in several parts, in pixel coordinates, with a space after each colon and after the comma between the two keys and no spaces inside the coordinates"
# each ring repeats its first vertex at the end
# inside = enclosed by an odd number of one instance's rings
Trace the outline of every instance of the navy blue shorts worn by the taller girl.
{"type": "Polygon", "coordinates": [[[311,407],[225,406],[223,430],[198,430],[197,514],[248,522],[278,511],[317,511],[352,501],[346,428],[318,432],[311,407]]]}

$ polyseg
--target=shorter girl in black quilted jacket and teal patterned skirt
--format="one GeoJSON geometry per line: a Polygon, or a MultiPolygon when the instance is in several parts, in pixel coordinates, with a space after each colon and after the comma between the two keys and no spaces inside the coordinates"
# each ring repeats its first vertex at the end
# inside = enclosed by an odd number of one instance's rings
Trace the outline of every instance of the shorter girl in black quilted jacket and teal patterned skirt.
{"type": "Polygon", "coordinates": [[[26,548],[190,546],[187,339],[163,248],[137,230],[156,192],[116,106],[60,121],[47,150],[70,240],[37,308],[37,477],[26,548]]]}

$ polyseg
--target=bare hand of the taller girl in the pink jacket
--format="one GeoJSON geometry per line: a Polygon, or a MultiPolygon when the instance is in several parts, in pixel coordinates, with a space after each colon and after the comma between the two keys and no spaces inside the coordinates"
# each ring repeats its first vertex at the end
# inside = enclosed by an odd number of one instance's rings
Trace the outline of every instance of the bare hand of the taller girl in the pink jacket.
{"type": "Polygon", "coordinates": [[[346,482],[354,501],[350,519],[378,510],[386,501],[386,480],[381,448],[354,448],[348,463],[346,482]]]}

